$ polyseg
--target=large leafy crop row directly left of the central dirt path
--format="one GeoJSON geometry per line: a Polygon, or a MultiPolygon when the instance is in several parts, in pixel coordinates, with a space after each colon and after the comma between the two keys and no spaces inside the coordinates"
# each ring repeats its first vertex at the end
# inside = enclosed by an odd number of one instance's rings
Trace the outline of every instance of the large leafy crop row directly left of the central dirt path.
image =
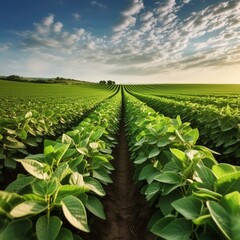
{"type": "Polygon", "coordinates": [[[74,233],[90,230],[91,214],[105,219],[98,197],[111,182],[120,108],[118,93],[74,130],[45,140],[43,153],[17,160],[27,174],[0,191],[0,239],[81,239],[74,233]]]}

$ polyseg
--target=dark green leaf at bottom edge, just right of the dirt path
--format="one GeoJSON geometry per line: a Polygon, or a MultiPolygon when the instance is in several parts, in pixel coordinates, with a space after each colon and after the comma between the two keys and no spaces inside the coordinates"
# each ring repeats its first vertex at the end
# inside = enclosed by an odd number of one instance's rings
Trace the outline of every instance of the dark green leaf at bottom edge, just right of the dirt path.
{"type": "Polygon", "coordinates": [[[191,221],[165,217],[156,222],[150,231],[166,240],[189,240],[193,230],[191,221]]]}

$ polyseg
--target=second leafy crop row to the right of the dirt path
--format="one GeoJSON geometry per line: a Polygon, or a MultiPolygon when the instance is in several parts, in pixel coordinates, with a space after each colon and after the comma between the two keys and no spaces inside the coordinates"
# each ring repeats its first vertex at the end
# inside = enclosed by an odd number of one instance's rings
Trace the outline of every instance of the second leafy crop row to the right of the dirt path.
{"type": "Polygon", "coordinates": [[[134,94],[154,110],[170,117],[180,115],[200,132],[201,144],[221,153],[219,159],[239,164],[240,117],[238,109],[219,110],[211,105],[175,101],[155,96],[134,94]]]}

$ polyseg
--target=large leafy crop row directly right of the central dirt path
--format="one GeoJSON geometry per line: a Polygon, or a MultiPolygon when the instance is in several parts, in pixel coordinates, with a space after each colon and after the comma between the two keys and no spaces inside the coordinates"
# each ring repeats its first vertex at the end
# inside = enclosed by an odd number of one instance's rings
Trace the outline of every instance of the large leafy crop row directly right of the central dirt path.
{"type": "Polygon", "coordinates": [[[179,116],[160,115],[129,94],[125,105],[135,180],[156,208],[150,231],[167,240],[237,240],[240,167],[218,164],[179,116]]]}

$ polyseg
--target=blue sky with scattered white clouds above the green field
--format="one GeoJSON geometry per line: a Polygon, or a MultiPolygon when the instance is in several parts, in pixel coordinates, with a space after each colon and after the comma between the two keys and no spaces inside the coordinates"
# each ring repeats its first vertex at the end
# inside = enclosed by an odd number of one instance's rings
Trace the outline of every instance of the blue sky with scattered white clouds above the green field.
{"type": "Polygon", "coordinates": [[[240,84],[240,0],[1,0],[12,74],[240,84]]]}

